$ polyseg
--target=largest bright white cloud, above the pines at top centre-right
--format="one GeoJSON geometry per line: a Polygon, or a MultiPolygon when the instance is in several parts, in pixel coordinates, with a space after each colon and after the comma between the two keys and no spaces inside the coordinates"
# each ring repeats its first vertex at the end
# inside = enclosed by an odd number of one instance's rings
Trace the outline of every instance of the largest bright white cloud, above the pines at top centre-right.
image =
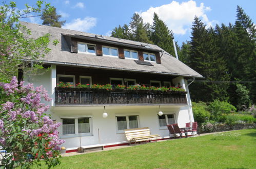
{"type": "Polygon", "coordinates": [[[196,6],[195,1],[187,1],[179,3],[172,1],[170,4],[162,5],[159,7],[150,7],[145,12],[138,12],[145,23],[153,23],[154,12],[162,19],[170,30],[175,34],[186,34],[190,29],[194,16],[202,18],[202,21],[207,24],[207,26],[213,26],[217,23],[216,20],[210,21],[205,14],[205,12],[210,11],[210,7],[205,7],[204,3],[200,6],[196,6]]]}

